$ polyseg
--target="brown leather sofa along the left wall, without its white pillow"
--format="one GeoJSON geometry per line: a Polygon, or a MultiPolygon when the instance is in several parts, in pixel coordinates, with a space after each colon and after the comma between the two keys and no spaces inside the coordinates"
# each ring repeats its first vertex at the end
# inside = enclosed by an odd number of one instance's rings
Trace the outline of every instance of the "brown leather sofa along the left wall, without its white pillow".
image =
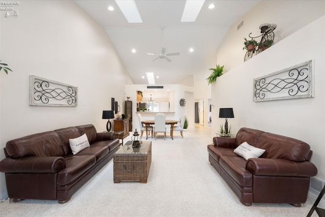
{"type": "Polygon", "coordinates": [[[68,127],[8,141],[0,172],[8,197],[66,203],[113,158],[119,146],[114,133],[97,133],[93,125],[68,127]],[[90,147],[73,155],[69,139],[87,135],[90,147]]]}

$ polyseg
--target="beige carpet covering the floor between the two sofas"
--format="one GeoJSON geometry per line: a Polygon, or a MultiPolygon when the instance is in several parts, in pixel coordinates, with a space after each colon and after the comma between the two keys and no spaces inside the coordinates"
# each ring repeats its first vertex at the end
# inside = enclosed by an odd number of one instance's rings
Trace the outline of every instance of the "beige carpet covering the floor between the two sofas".
{"type": "MultiPolygon", "coordinates": [[[[113,160],[66,204],[24,200],[0,203],[1,216],[306,216],[313,202],[242,205],[208,161],[210,128],[152,141],[147,183],[113,183],[113,160]]],[[[145,139],[145,138],[144,138],[145,139]]],[[[129,137],[124,141],[129,140],[129,137]]],[[[316,212],[313,216],[317,216],[316,212]]]]}

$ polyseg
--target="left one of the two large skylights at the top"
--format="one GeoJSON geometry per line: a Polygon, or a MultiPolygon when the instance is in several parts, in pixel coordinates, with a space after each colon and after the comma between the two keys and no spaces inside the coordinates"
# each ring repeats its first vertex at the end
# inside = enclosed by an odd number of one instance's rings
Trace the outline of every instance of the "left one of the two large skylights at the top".
{"type": "Polygon", "coordinates": [[[140,13],[134,0],[115,0],[129,23],[142,23],[140,13]]]}

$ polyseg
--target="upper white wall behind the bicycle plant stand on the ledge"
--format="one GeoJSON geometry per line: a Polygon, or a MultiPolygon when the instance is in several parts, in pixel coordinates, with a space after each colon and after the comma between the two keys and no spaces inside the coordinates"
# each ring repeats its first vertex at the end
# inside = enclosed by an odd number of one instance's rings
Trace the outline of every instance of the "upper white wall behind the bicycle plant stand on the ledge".
{"type": "MultiPolygon", "coordinates": [[[[230,71],[241,65],[246,50],[244,37],[252,33],[253,37],[261,35],[258,28],[262,23],[275,23],[274,43],[281,41],[298,29],[325,15],[325,1],[261,1],[229,29],[216,52],[217,63],[224,65],[224,71],[230,71]],[[244,21],[237,30],[237,25],[244,21]]],[[[256,39],[257,42],[261,38],[256,39]]]]}

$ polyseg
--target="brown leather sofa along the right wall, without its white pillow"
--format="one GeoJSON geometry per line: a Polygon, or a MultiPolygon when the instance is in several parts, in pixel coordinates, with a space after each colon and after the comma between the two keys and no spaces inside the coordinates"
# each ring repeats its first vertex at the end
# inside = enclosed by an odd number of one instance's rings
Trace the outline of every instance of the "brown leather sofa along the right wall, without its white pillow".
{"type": "Polygon", "coordinates": [[[235,138],[214,137],[208,145],[209,162],[242,204],[290,203],[301,206],[308,196],[310,177],[317,168],[310,146],[300,140],[241,128],[235,138]],[[266,150],[247,161],[234,153],[243,142],[266,150]]]}

